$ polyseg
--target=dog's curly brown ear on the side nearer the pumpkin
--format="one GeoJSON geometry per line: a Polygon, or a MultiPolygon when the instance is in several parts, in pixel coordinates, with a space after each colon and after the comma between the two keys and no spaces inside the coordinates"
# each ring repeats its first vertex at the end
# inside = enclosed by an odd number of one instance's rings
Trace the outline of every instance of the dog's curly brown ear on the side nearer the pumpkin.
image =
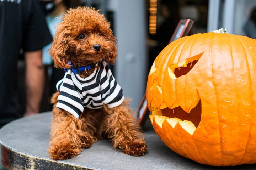
{"type": "Polygon", "coordinates": [[[110,64],[114,64],[114,62],[116,61],[116,57],[117,57],[117,47],[116,47],[117,39],[116,39],[116,37],[114,37],[112,32],[110,33],[110,39],[111,39],[111,49],[108,50],[108,54],[105,57],[105,61],[110,64]]]}

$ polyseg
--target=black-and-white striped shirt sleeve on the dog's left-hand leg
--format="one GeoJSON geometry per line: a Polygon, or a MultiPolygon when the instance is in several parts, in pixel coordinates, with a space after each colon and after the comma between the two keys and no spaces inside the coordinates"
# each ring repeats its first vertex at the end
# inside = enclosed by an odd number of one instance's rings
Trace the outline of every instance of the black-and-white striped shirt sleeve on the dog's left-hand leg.
{"type": "Polygon", "coordinates": [[[79,115],[84,111],[84,105],[73,82],[65,78],[63,84],[59,87],[59,91],[60,94],[58,96],[56,107],[79,118],[79,115]]]}

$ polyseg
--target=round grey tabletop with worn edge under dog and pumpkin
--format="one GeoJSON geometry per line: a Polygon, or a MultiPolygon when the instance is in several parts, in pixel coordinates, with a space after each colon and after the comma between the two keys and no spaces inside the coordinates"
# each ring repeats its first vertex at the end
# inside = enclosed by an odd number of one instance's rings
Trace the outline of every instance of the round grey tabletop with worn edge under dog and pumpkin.
{"type": "Polygon", "coordinates": [[[171,151],[155,134],[150,121],[145,125],[149,151],[143,157],[123,154],[113,149],[109,140],[101,140],[84,149],[77,157],[65,161],[49,159],[49,132],[52,113],[21,118],[0,130],[1,163],[10,170],[199,170],[256,169],[256,164],[213,167],[193,162],[171,151]]]}

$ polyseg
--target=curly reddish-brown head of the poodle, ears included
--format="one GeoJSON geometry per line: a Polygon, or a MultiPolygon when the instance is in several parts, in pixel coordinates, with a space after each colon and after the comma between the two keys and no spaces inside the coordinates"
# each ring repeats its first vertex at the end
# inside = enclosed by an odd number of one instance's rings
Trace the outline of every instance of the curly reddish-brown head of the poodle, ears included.
{"type": "Polygon", "coordinates": [[[110,23],[97,10],[89,7],[70,9],[59,23],[50,48],[55,67],[69,68],[116,60],[116,38],[110,23]]]}

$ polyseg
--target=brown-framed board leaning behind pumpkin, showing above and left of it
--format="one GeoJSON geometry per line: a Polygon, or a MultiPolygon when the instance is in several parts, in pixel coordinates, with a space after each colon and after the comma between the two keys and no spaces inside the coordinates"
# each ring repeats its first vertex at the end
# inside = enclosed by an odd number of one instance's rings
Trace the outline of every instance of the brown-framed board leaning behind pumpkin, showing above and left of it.
{"type": "MultiPolygon", "coordinates": [[[[175,41],[181,37],[189,35],[193,24],[194,24],[194,21],[192,19],[180,19],[168,44],[170,44],[172,41],[175,41]]],[[[148,109],[148,102],[147,102],[146,93],[145,93],[137,109],[138,124],[140,126],[144,126],[149,115],[150,115],[150,112],[148,109]]]]}

